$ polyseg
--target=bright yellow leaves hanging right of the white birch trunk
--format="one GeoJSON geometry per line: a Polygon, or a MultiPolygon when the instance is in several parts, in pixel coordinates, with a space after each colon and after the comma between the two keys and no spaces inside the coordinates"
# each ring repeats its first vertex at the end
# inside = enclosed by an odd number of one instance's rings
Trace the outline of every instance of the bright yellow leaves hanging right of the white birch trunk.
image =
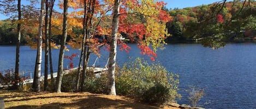
{"type": "Polygon", "coordinates": [[[134,4],[132,1],[126,1],[128,5],[128,12],[135,13],[135,15],[142,15],[141,20],[138,16],[133,16],[133,18],[139,18],[136,22],[132,19],[133,23],[142,23],[146,28],[145,40],[141,42],[142,46],[149,46],[151,44],[154,52],[156,52],[158,47],[163,47],[165,44],[164,40],[166,36],[170,36],[166,30],[166,22],[160,21],[158,19],[159,12],[162,6],[158,6],[154,0],[141,0],[138,4],[134,4]],[[138,13],[138,14],[137,14],[138,13]]]}

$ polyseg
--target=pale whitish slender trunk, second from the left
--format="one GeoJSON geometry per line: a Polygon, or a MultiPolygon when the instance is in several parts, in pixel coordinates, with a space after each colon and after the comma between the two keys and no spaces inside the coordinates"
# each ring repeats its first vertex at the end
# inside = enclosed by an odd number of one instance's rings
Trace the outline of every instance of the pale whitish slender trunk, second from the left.
{"type": "Polygon", "coordinates": [[[42,61],[42,35],[43,35],[43,19],[44,19],[44,0],[41,0],[41,10],[39,17],[39,29],[38,29],[38,53],[37,53],[37,64],[34,78],[34,91],[40,91],[40,76],[41,76],[41,61],[42,61]]]}

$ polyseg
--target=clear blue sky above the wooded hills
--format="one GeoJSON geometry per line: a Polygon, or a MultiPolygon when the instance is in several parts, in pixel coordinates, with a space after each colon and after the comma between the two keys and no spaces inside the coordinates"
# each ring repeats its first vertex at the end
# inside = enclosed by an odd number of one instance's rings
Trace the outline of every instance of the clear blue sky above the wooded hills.
{"type": "MultiPolygon", "coordinates": [[[[159,0],[161,1],[161,0],[159,0]]],[[[195,6],[198,6],[198,5],[202,5],[202,4],[211,4],[211,3],[214,3],[214,2],[219,2],[219,1],[222,1],[222,0],[162,0],[164,1],[165,3],[168,3],[166,5],[166,8],[168,9],[174,9],[174,8],[179,8],[179,9],[182,9],[182,8],[186,8],[186,7],[195,7],[195,6]]],[[[233,0],[228,0],[228,1],[233,1],[233,0]]],[[[0,20],[5,20],[7,19],[8,17],[0,14],[0,20]]]]}

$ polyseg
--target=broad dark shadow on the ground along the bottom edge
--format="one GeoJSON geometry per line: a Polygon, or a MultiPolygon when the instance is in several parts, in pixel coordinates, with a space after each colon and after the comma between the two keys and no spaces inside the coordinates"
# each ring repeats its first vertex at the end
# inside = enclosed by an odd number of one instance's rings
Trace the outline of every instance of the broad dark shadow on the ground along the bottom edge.
{"type": "Polygon", "coordinates": [[[134,109],[143,109],[143,108],[149,108],[149,109],[156,109],[158,107],[144,105],[144,104],[138,104],[137,102],[133,101],[127,101],[127,100],[120,100],[120,99],[109,99],[100,97],[100,95],[88,95],[86,98],[82,99],[76,99],[73,102],[54,102],[50,104],[44,104],[44,105],[20,105],[20,106],[14,106],[9,107],[6,109],[27,109],[27,108],[42,108],[42,109],[61,109],[61,108],[134,108],[134,109]]]}

